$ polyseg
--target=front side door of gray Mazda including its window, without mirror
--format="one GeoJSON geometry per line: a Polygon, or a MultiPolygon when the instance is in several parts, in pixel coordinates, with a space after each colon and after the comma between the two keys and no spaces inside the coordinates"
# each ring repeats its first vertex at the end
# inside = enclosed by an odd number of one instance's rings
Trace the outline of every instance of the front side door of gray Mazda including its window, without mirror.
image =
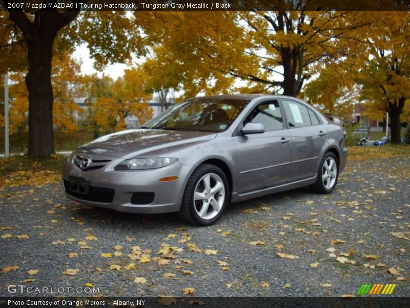
{"type": "Polygon", "coordinates": [[[265,132],[235,136],[239,194],[289,182],[292,139],[278,100],[259,103],[242,125],[262,123],[265,132]]]}

